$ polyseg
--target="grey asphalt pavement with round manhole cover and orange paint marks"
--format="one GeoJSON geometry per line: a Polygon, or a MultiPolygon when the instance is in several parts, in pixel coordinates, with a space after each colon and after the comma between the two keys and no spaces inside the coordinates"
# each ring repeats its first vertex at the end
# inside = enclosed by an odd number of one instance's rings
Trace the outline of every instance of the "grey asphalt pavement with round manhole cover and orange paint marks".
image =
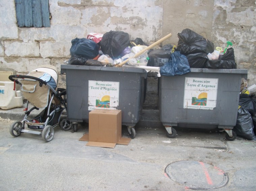
{"type": "MultiPolygon", "coordinates": [[[[255,141],[197,129],[176,129],[171,139],[157,118],[144,117],[128,145],[91,147],[79,141],[87,124],[77,132],[56,126],[45,142],[40,135],[10,135],[22,108],[0,110],[0,117],[2,191],[255,191],[255,141]]],[[[122,136],[129,137],[126,127],[122,136]]]]}

